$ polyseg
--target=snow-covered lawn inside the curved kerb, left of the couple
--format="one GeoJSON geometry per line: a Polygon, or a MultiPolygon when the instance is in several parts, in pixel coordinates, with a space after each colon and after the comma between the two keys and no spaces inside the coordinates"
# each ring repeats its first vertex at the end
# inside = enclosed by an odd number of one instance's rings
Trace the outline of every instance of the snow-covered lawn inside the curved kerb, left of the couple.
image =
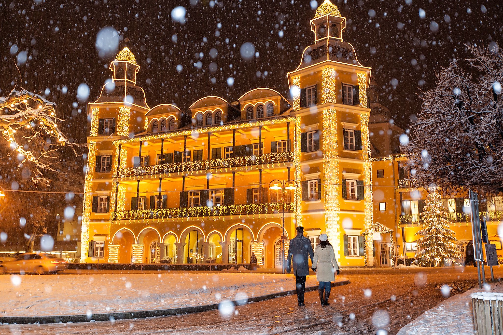
{"type": "MultiPolygon", "coordinates": [[[[316,276],[307,277],[306,287],[316,284],[316,276]]],[[[2,275],[0,316],[169,309],[293,289],[295,277],[282,274],[2,275]]]]}

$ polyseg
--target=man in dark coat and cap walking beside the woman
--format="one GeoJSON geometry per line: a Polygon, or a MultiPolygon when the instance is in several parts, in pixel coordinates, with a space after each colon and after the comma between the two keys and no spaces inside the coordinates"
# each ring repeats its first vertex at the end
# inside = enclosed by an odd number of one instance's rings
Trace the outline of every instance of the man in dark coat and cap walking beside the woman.
{"type": "Polygon", "coordinates": [[[295,286],[297,287],[297,302],[300,306],[304,304],[304,291],[306,289],[306,276],[309,274],[309,259],[313,261],[313,248],[311,241],[304,237],[304,227],[297,227],[297,236],[290,240],[288,247],[287,272],[292,271],[295,275],[295,286]]]}

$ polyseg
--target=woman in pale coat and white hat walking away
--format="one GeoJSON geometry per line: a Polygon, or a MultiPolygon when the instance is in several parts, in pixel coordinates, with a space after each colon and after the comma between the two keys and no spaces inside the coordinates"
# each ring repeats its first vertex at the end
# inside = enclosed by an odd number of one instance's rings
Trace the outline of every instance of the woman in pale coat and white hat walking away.
{"type": "Polygon", "coordinates": [[[336,254],[334,254],[332,245],[327,239],[326,234],[319,236],[319,244],[314,249],[312,264],[312,270],[316,272],[316,280],[319,281],[318,293],[321,306],[329,305],[330,283],[335,280],[335,273],[339,274],[336,254]]]}

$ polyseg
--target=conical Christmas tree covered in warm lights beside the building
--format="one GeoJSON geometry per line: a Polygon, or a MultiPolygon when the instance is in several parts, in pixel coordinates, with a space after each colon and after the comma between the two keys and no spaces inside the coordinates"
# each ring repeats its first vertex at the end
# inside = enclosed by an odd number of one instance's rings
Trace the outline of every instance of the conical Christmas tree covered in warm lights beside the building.
{"type": "Polygon", "coordinates": [[[449,228],[452,222],[436,189],[430,188],[420,218],[423,223],[422,229],[415,234],[421,236],[417,240],[415,263],[419,266],[439,267],[455,262],[460,257],[455,244],[457,240],[449,228]]]}

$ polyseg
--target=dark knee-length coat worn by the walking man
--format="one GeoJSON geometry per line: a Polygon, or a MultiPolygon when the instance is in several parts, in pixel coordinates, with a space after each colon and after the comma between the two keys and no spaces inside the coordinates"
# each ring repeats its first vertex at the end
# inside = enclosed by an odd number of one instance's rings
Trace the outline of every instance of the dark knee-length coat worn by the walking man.
{"type": "Polygon", "coordinates": [[[311,241],[304,237],[302,233],[290,240],[288,247],[287,271],[290,272],[293,262],[293,274],[296,276],[307,276],[309,274],[309,258],[313,260],[313,248],[311,241]]]}

